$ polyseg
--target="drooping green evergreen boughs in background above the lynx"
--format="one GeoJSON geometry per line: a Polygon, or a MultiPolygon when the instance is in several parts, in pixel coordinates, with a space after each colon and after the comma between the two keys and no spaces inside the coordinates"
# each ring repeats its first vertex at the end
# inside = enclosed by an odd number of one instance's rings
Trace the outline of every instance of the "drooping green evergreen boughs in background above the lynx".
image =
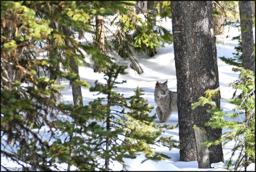
{"type": "Polygon", "coordinates": [[[146,20],[143,20],[130,9],[127,13],[119,11],[117,17],[110,21],[111,26],[117,27],[117,32],[113,33],[111,41],[107,40],[110,43],[107,47],[115,50],[121,58],[130,59],[131,68],[138,74],[142,74],[143,69],[135,59],[134,52],[149,52],[154,56],[156,47],[164,47],[165,43],[173,42],[170,31],[158,25],[153,27],[155,24],[152,22],[152,17],[153,15],[145,15],[146,20]],[[115,22],[116,18],[118,21],[115,22]]]}

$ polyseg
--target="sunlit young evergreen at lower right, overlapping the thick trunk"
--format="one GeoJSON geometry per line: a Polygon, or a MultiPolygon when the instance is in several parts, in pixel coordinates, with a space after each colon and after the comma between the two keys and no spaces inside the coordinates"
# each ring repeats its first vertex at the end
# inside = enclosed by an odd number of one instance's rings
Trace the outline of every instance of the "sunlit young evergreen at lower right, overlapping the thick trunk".
{"type": "Polygon", "coordinates": [[[235,141],[232,149],[232,156],[225,162],[228,170],[239,170],[241,167],[247,167],[251,163],[255,163],[255,77],[250,70],[233,68],[235,72],[241,72],[239,79],[229,84],[236,90],[241,90],[241,97],[232,98],[227,102],[235,104],[236,113],[223,113],[222,109],[218,109],[211,99],[216,95],[219,89],[205,91],[205,97],[200,97],[197,103],[192,104],[192,109],[198,106],[204,106],[205,103],[211,104],[213,109],[208,113],[213,113],[209,122],[205,126],[211,128],[227,128],[232,131],[225,132],[221,138],[215,142],[207,141],[202,145],[211,146],[223,143],[225,146],[230,141],[235,141]],[[234,119],[234,120],[227,120],[234,119]],[[235,121],[241,119],[241,121],[235,121]],[[238,160],[233,163],[233,156],[239,151],[238,160]]]}

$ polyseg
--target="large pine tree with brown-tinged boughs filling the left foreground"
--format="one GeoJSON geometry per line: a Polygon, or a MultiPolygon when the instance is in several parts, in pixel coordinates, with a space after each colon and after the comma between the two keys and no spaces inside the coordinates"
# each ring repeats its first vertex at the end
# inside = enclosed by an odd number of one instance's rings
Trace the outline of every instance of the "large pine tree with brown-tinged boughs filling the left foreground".
{"type": "MultiPolygon", "coordinates": [[[[55,101],[49,98],[54,97],[63,87],[55,85],[55,81],[49,80],[46,76],[40,77],[36,71],[42,68],[43,71],[55,73],[57,77],[65,77],[70,82],[77,82],[85,87],[89,85],[85,81],[78,81],[77,75],[56,70],[58,63],[65,65],[67,64],[65,60],[68,62],[68,58],[38,59],[38,56],[44,49],[51,48],[47,44],[47,39],[52,37],[58,40],[60,49],[61,47],[62,50],[67,49],[63,44],[63,34],[49,27],[51,20],[65,23],[77,30],[80,27],[86,28],[88,24],[85,21],[88,18],[85,14],[90,13],[90,8],[86,8],[86,5],[77,7],[75,2],[6,1],[1,2],[1,11],[4,12],[1,15],[1,71],[8,74],[8,70],[11,69],[15,73],[14,80],[10,75],[1,75],[1,80],[7,83],[2,85],[6,89],[1,89],[1,142],[6,145],[1,149],[1,154],[21,164],[23,170],[50,170],[54,164],[51,162],[48,164],[48,158],[52,158],[55,154],[48,153],[52,149],[60,148],[65,150],[65,154],[68,149],[61,145],[50,148],[49,142],[38,136],[38,130],[45,125],[49,126],[49,135],[51,138],[54,137],[55,126],[48,117],[55,119],[56,114],[68,114],[68,111],[57,106],[55,101]],[[42,20],[36,18],[39,15],[42,20]],[[52,37],[49,36],[51,32],[52,37]],[[42,42],[46,43],[43,45],[44,49],[40,49],[42,42]],[[40,47],[36,46],[38,44],[40,47]],[[10,146],[18,149],[18,154],[15,151],[8,151],[10,146]],[[29,163],[31,168],[23,163],[29,163]]],[[[93,12],[95,15],[107,14],[107,12],[99,12],[96,8],[93,12]]],[[[70,40],[76,43],[72,38],[70,40]]],[[[95,48],[82,45],[80,47],[86,49],[88,53],[98,53],[98,56],[101,56],[95,48]]],[[[65,107],[71,111],[73,105],[65,107]]],[[[64,157],[65,160],[67,158],[64,157]]]]}

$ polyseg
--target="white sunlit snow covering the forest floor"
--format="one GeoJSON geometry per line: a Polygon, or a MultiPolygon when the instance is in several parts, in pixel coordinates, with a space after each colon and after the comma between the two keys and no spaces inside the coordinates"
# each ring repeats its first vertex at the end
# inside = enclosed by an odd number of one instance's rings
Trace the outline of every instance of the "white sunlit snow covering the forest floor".
{"type": "MultiPolygon", "coordinates": [[[[171,20],[167,18],[166,20],[163,20],[161,23],[163,27],[166,27],[167,30],[171,31],[171,20]]],[[[112,29],[113,32],[116,30],[114,27],[108,26],[108,28],[112,29]]],[[[226,33],[224,36],[217,36],[217,40],[222,40],[222,44],[217,44],[217,56],[226,56],[226,58],[232,57],[232,53],[235,53],[235,46],[238,46],[238,42],[232,41],[233,36],[239,35],[238,28],[232,28],[230,27],[229,33],[227,33],[228,28],[225,28],[226,33]],[[229,37],[226,38],[227,34],[229,37]]],[[[171,31],[172,33],[172,31],[171,31]]],[[[255,35],[255,31],[254,31],[255,35]]],[[[86,34],[86,39],[89,41],[92,40],[89,34],[86,34]]],[[[83,40],[80,40],[81,42],[83,40]]],[[[85,42],[82,42],[85,44],[85,42]]],[[[118,56],[118,55],[115,55],[118,56]]],[[[117,58],[115,60],[115,63],[118,65],[127,65],[129,66],[128,69],[126,69],[126,72],[129,72],[127,75],[120,75],[118,77],[118,80],[127,80],[127,83],[117,85],[118,88],[115,89],[120,94],[124,94],[124,96],[129,97],[133,95],[133,91],[136,90],[136,87],[142,87],[143,90],[145,90],[145,95],[143,97],[148,100],[149,104],[154,105],[157,107],[157,104],[154,101],[154,89],[155,89],[155,82],[165,82],[166,79],[168,80],[168,88],[171,91],[177,91],[177,80],[176,80],[176,70],[175,70],[175,63],[174,63],[174,50],[173,50],[173,44],[168,45],[166,44],[166,47],[159,47],[157,48],[157,55],[154,57],[150,57],[149,53],[144,53],[143,55],[136,54],[136,58],[138,59],[140,65],[143,68],[143,74],[138,75],[136,74],[133,69],[130,68],[130,62],[129,60],[123,60],[120,58],[117,58]]],[[[104,74],[98,74],[94,73],[92,66],[93,62],[90,60],[90,56],[88,56],[88,59],[86,59],[86,62],[89,63],[89,66],[82,66],[79,67],[79,74],[80,79],[83,81],[85,80],[89,85],[93,86],[94,82],[98,80],[98,82],[101,82],[102,84],[105,84],[104,80],[104,74]]],[[[228,98],[232,98],[232,95],[235,90],[229,87],[224,87],[229,82],[232,82],[236,78],[238,78],[238,73],[232,72],[233,66],[228,66],[226,63],[222,62],[220,59],[218,59],[218,74],[219,74],[219,81],[220,81],[220,89],[221,91],[221,109],[224,110],[224,112],[232,112],[233,108],[235,107],[233,104],[227,103],[226,100],[228,98]]],[[[73,97],[72,97],[72,91],[71,86],[69,84],[69,81],[62,81],[61,85],[65,86],[65,90],[61,90],[61,94],[63,94],[63,97],[61,98],[62,101],[65,103],[73,103],[73,97]]],[[[83,94],[83,104],[88,104],[89,101],[93,101],[98,96],[93,95],[95,93],[90,93],[88,88],[82,87],[82,94],[83,94]]],[[[152,110],[150,115],[154,115],[155,109],[152,110]]],[[[70,120],[70,119],[69,119],[70,120]]],[[[239,119],[238,119],[239,120],[239,119]]],[[[159,119],[155,119],[155,122],[160,122],[159,119]]],[[[178,123],[178,114],[177,112],[173,112],[171,114],[170,119],[166,123],[167,125],[176,125],[178,123]]],[[[42,128],[39,131],[39,135],[41,135],[44,139],[48,139],[47,136],[47,130],[49,128],[42,128]]],[[[37,130],[36,130],[37,131],[37,130]]],[[[226,131],[223,130],[223,132],[226,131]]],[[[170,136],[173,135],[173,139],[179,140],[179,128],[175,128],[173,130],[165,130],[165,133],[162,134],[162,136],[170,136]]],[[[61,136],[60,139],[64,140],[65,135],[61,136]]],[[[2,140],[2,139],[1,139],[2,140]]],[[[230,151],[235,145],[235,142],[230,142],[223,148],[223,154],[224,154],[224,160],[228,160],[230,157],[230,151]]],[[[160,146],[155,147],[155,151],[161,152],[163,154],[168,155],[171,157],[171,159],[160,161],[158,163],[155,163],[151,160],[145,161],[145,163],[141,164],[141,161],[145,159],[145,155],[141,154],[136,159],[130,160],[125,159],[125,163],[129,165],[127,169],[130,171],[227,171],[223,169],[223,163],[215,163],[212,164],[209,169],[202,169],[198,168],[197,161],[191,161],[191,162],[182,162],[180,160],[180,154],[179,149],[173,148],[171,151],[168,150],[168,148],[160,146]]],[[[2,146],[1,146],[2,149],[2,146]]],[[[237,158],[237,157],[236,157],[237,158]]],[[[236,160],[234,158],[234,160],[236,160]]],[[[19,170],[21,165],[18,165],[17,163],[12,162],[11,160],[7,160],[7,158],[3,157],[1,155],[1,165],[4,165],[5,167],[8,167],[10,170],[19,170]]],[[[61,169],[67,169],[67,164],[59,164],[61,169]]],[[[122,170],[122,166],[119,163],[111,164],[111,168],[114,171],[120,171],[122,170]]],[[[1,167],[1,170],[4,170],[4,168],[1,167]]],[[[71,167],[71,170],[75,170],[75,168],[71,167]]],[[[255,171],[255,164],[251,164],[248,167],[248,171],[255,171]]]]}

